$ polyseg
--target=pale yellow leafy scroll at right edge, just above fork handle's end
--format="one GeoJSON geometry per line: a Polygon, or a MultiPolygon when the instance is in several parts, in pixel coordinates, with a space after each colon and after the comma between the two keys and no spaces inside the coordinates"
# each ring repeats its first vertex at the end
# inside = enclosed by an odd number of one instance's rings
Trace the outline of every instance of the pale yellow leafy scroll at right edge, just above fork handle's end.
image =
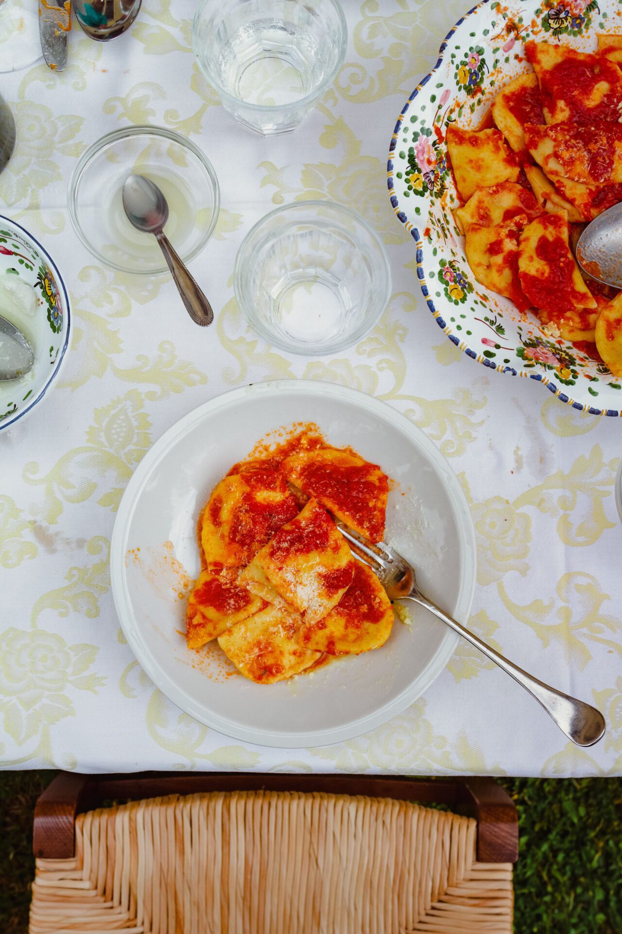
{"type": "Polygon", "coordinates": [[[602,612],[610,600],[597,579],[583,571],[561,575],[557,600],[533,600],[526,604],[513,601],[503,581],[497,585],[505,608],[535,632],[545,648],[557,642],[566,660],[583,670],[592,658],[590,644],[604,645],[622,658],[622,621],[602,612]]]}

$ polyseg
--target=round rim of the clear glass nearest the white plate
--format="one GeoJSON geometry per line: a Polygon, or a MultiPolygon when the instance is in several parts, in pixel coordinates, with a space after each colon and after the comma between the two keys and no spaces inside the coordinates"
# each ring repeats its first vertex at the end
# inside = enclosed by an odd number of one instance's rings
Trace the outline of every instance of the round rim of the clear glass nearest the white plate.
{"type": "Polygon", "coordinates": [[[367,223],[366,219],[362,218],[357,211],[353,211],[352,207],[347,205],[341,205],[339,202],[333,201],[322,201],[321,199],[309,200],[309,201],[293,201],[289,205],[281,205],[280,207],[275,208],[273,211],[270,211],[268,214],[264,214],[262,218],[259,218],[256,223],[251,227],[250,231],[246,234],[242,240],[242,244],[238,249],[236,254],[235,263],[233,266],[233,292],[235,294],[236,300],[240,305],[242,310],[242,315],[246,318],[247,322],[251,325],[252,328],[256,330],[264,340],[268,341],[273,347],[279,347],[281,350],[285,350],[287,353],[296,354],[299,357],[325,357],[327,354],[337,353],[339,350],[345,350],[347,347],[352,347],[358,341],[360,341],[367,333],[373,331],[376,327],[380,318],[382,317],[384,310],[389,304],[389,299],[391,298],[392,290],[392,278],[391,278],[391,265],[389,263],[389,256],[387,254],[386,248],[380,239],[380,235],[374,230],[374,228],[367,223]],[[338,215],[342,214],[350,219],[355,220],[361,225],[363,230],[371,237],[376,247],[378,248],[381,264],[384,267],[385,271],[385,289],[384,294],[379,298],[379,310],[374,318],[363,322],[362,326],[357,328],[356,331],[349,334],[347,337],[342,338],[339,341],[335,341],[333,344],[326,344],[325,347],[320,347],[316,350],[305,348],[302,344],[296,344],[293,340],[292,344],[286,344],[284,341],[280,340],[278,335],[271,332],[269,328],[266,328],[261,320],[261,318],[256,318],[252,311],[249,311],[248,304],[244,301],[243,290],[242,290],[242,261],[244,254],[248,249],[248,245],[255,235],[255,233],[268,223],[272,218],[278,217],[281,214],[284,214],[287,211],[291,211],[295,208],[304,208],[304,207],[327,207],[330,210],[335,211],[338,215]]]}

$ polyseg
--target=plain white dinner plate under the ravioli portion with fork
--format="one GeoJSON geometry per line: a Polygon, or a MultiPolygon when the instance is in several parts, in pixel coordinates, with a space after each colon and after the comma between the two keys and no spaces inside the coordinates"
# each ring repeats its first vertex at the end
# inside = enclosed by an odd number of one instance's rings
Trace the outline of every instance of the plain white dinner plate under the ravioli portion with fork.
{"type": "Polygon", "coordinates": [[[382,648],[276,685],[243,678],[216,643],[199,654],[187,649],[184,575],[200,571],[200,510],[263,435],[294,422],[315,422],[331,445],[352,446],[395,481],[387,539],[414,562],[423,592],[460,622],[476,580],[475,534],[455,474],[387,403],[328,383],[281,380],[234,389],[180,418],[138,465],[118,510],[111,548],[117,614],[145,672],[187,714],[245,742],[286,748],[379,727],[432,684],[458,641],[408,603],[412,625],[396,620],[382,648]]]}

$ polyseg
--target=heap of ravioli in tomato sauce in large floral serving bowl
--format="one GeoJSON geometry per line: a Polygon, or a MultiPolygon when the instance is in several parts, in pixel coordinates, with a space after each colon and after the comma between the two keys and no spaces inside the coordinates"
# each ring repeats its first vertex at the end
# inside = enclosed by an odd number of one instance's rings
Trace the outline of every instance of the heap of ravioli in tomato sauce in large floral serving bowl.
{"type": "Polygon", "coordinates": [[[597,39],[593,52],[525,43],[532,70],[497,92],[492,125],[450,123],[447,147],[477,281],[622,376],[617,293],[574,255],[583,226],[622,202],[622,35],[597,39]]]}

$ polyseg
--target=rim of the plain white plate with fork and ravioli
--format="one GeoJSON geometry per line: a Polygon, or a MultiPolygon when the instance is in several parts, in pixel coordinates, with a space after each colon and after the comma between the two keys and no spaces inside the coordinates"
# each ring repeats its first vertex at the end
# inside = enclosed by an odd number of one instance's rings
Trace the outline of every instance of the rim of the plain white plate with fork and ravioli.
{"type": "Polygon", "coordinates": [[[420,446],[429,457],[435,467],[435,473],[440,476],[456,518],[458,542],[461,551],[462,583],[454,612],[458,620],[464,623],[468,621],[475,596],[477,545],[475,527],[463,488],[460,486],[456,474],[449,466],[448,460],[441,454],[428,435],[419,426],[409,421],[408,417],[403,413],[392,405],[376,399],[374,396],[368,396],[358,389],[351,389],[350,387],[325,381],[306,379],[281,379],[251,383],[237,389],[230,389],[214,396],[205,403],[200,403],[160,435],[159,439],[149,448],[143,460],[138,464],[123,493],[110,543],[110,583],[113,601],[121,629],[130,645],[131,652],[154,685],[159,687],[159,690],[181,710],[205,726],[215,729],[230,738],[242,740],[244,743],[282,749],[297,749],[341,743],[353,739],[372,729],[377,729],[393,716],[401,714],[409,704],[421,697],[422,693],[433,684],[440,672],[447,666],[460,637],[447,628],[435,656],[427,668],[393,701],[383,704],[374,714],[339,727],[312,730],[305,733],[279,732],[271,729],[257,731],[256,729],[246,728],[237,722],[229,721],[221,715],[205,715],[203,711],[198,709],[195,701],[187,695],[183,686],[177,685],[168,675],[163,675],[158,664],[152,658],[140,627],[131,613],[127,575],[124,573],[125,556],[129,544],[129,527],[138,499],[153,472],[158,468],[159,462],[169,453],[178,440],[194,427],[196,422],[219,408],[241,403],[244,398],[250,395],[277,396],[280,392],[283,392],[283,389],[293,394],[311,393],[324,395],[328,398],[337,396],[340,401],[350,401],[359,406],[363,404],[364,407],[380,414],[380,417],[392,422],[398,429],[410,435],[413,442],[420,446]]]}

